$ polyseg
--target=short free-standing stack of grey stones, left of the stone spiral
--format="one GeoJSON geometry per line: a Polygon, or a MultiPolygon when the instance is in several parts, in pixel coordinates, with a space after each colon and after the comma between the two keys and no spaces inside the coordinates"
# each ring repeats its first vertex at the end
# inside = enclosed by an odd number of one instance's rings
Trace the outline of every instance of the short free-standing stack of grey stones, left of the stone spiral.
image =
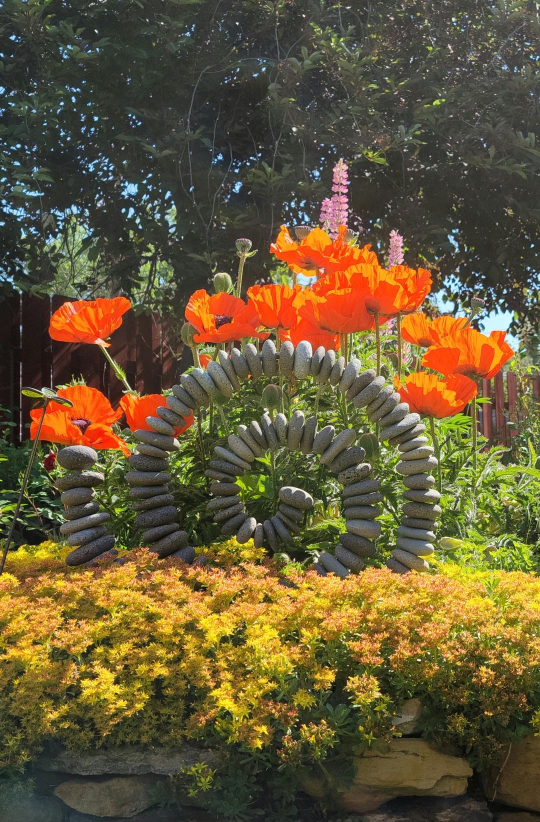
{"type": "Polygon", "coordinates": [[[89,470],[97,460],[95,450],[87,446],[67,446],[58,451],[58,464],[69,471],[56,483],[66,506],[67,522],[60,526],[60,533],[69,546],[76,546],[66,557],[68,566],[83,565],[106,552],[113,556],[115,538],[104,527],[110,514],[99,510],[99,502],[95,501],[94,488],[104,482],[104,475],[89,470]]]}

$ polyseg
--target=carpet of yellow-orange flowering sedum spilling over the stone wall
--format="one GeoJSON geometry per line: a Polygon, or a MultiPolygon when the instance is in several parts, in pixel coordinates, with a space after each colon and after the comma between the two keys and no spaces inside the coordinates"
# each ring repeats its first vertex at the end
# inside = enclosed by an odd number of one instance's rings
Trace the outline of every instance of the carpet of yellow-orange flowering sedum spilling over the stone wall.
{"type": "Polygon", "coordinates": [[[234,540],[219,567],[132,552],[123,566],[70,569],[45,543],[0,577],[0,768],[47,739],[324,759],[389,738],[402,700],[426,733],[481,761],[540,728],[540,580],[505,571],[339,580],[293,570],[279,584],[234,540]],[[258,753],[256,753],[258,751],[258,753]]]}

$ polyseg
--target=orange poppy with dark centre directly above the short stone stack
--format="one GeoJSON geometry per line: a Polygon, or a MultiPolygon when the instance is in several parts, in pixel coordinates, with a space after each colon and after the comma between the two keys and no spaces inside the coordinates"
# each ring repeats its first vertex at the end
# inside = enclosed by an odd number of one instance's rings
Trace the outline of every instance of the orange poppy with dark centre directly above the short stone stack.
{"type": "MultiPolygon", "coordinates": [[[[101,391],[90,386],[68,386],[60,388],[58,396],[71,399],[73,406],[67,408],[54,402],[48,404],[40,440],[58,442],[62,446],[119,449],[125,456],[130,455],[127,442],[111,428],[122,416],[122,411],[114,411],[101,391]]],[[[30,411],[32,440],[35,439],[40,417],[41,409],[30,411]]]]}

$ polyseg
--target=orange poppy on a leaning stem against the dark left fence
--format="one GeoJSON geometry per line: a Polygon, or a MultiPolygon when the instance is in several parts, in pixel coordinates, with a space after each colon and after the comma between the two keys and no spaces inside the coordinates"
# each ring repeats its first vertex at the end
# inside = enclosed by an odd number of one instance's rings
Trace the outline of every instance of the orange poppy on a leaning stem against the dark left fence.
{"type": "Polygon", "coordinates": [[[122,325],[132,307],[125,297],[64,302],[51,317],[48,333],[62,343],[93,343],[108,348],[105,338],[122,325]]]}

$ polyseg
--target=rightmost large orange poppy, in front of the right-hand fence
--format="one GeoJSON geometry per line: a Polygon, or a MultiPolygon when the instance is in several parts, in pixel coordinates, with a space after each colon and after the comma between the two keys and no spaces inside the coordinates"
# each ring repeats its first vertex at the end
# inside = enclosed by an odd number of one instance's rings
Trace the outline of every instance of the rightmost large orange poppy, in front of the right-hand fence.
{"type": "Polygon", "coordinates": [[[514,352],[505,343],[505,331],[492,331],[487,337],[473,328],[454,331],[442,339],[422,358],[422,365],[441,374],[482,376],[491,380],[514,352]]]}

